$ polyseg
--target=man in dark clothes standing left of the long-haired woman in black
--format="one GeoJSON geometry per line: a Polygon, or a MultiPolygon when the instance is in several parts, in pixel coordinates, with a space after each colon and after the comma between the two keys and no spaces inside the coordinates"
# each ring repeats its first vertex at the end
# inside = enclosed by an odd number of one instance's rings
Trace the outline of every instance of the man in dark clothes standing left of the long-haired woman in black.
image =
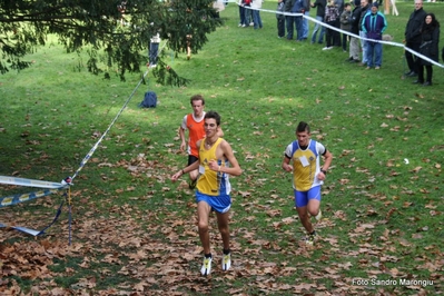
{"type": "MultiPolygon", "coordinates": [[[[405,46],[416,52],[420,52],[421,46],[421,27],[424,22],[425,14],[427,12],[423,9],[423,0],[415,0],[415,10],[412,12],[408,18],[407,26],[405,27],[405,46]]],[[[408,77],[414,77],[417,75],[416,69],[416,57],[413,56],[412,52],[405,51],[405,59],[408,65],[408,72],[405,75],[408,77]]]]}

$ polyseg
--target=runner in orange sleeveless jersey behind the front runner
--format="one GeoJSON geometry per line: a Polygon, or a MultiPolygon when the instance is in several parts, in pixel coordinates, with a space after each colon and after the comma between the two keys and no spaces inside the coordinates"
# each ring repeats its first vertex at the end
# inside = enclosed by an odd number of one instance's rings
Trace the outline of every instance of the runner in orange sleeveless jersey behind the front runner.
{"type": "MultiPolygon", "coordinates": [[[[185,130],[188,129],[188,166],[198,160],[199,151],[196,146],[196,142],[205,137],[204,129],[204,116],[205,116],[205,99],[201,95],[195,95],[190,99],[193,114],[188,114],[184,117],[181,125],[179,127],[179,136],[180,136],[180,151],[185,150],[186,139],[185,139],[185,130]]],[[[220,137],[224,137],[224,131],[218,128],[218,132],[220,137]]],[[[199,176],[199,171],[197,169],[191,170],[189,172],[189,188],[195,189],[196,180],[199,176]]]]}

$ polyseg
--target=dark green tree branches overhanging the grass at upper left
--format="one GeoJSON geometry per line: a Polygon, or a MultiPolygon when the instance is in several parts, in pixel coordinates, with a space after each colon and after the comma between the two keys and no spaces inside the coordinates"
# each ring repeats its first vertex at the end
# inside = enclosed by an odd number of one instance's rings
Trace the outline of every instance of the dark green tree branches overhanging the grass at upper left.
{"type": "MultiPolygon", "coordinates": [[[[214,0],[0,0],[0,72],[30,66],[28,53],[56,34],[68,52],[87,50],[88,70],[109,78],[106,68],[119,76],[140,71],[147,62],[150,38],[160,33],[176,52],[188,42],[196,53],[207,34],[220,26],[214,0]],[[187,38],[191,36],[191,38],[187,38]],[[101,63],[102,62],[102,63],[101,63]]],[[[154,70],[161,83],[184,85],[169,66],[158,61],[154,70]]]]}

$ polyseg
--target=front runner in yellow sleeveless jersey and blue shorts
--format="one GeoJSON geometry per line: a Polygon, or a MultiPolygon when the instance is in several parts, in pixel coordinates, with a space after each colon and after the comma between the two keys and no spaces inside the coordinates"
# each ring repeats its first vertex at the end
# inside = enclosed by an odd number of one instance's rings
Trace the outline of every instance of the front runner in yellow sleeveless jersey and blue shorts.
{"type": "Polygon", "coordinates": [[[197,219],[200,241],[204,247],[204,264],[200,273],[207,276],[211,272],[211,249],[209,244],[208,219],[211,210],[216,211],[217,225],[224,243],[223,270],[231,266],[229,250],[228,215],[231,206],[229,196],[231,186],[229,175],[239,176],[241,169],[231,146],[219,137],[220,116],[209,111],[204,118],[205,138],[197,141],[199,147],[199,161],[180,169],[171,176],[176,181],[181,175],[199,169],[200,177],[197,180],[196,201],[197,219]]]}

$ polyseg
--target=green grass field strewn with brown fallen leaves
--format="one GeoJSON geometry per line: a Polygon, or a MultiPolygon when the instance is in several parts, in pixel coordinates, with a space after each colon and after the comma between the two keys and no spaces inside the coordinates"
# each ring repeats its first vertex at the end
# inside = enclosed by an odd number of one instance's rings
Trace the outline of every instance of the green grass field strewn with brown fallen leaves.
{"type": "MultiPolygon", "coordinates": [[[[413,3],[397,6],[401,14],[387,16],[387,33],[402,42],[413,3]]],[[[264,7],[275,9],[275,2],[264,7]]],[[[442,3],[424,7],[444,12],[442,3]]],[[[443,289],[443,70],[434,67],[433,87],[418,87],[402,77],[406,66],[398,47],[385,46],[382,69],[367,71],[345,62],[341,49],[324,52],[322,46],[277,39],[273,13],[262,13],[264,29],[256,31],[238,28],[237,13],[230,3],[221,12],[224,27],[191,60],[166,52],[166,61],[191,79],[189,86],[159,86],[149,73],[148,86],[137,90],[75,179],[71,246],[66,206],[46,236],[1,230],[0,292],[17,285],[27,295],[57,288],[103,295],[443,289]],[[148,88],[159,105],[142,110],[137,105],[148,88]],[[208,279],[198,273],[201,248],[187,178],[169,181],[186,164],[177,128],[195,93],[204,95],[206,110],[221,115],[225,138],[244,169],[231,181],[234,267],[220,270],[221,243],[211,219],[217,256],[208,279]],[[300,120],[334,155],[314,249],[299,244],[290,176],[280,168],[300,120]],[[39,276],[36,270],[43,268],[50,273],[39,276]],[[353,284],[359,278],[434,284],[353,284]]],[[[29,59],[30,69],[0,77],[0,175],[59,181],[78,169],[140,73],[124,83],[117,75],[103,80],[86,65],[79,71],[78,56],[56,45],[29,59]]],[[[29,191],[2,186],[0,196],[29,191]]],[[[61,199],[0,208],[0,221],[41,229],[61,199]]]]}

